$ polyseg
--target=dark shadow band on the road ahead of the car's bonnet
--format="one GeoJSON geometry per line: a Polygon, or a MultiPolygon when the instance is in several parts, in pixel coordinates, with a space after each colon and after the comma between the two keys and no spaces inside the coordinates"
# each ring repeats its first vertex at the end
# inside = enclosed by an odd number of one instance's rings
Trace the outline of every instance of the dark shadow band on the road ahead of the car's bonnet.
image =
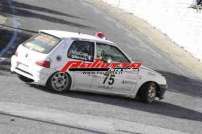
{"type": "Polygon", "coordinates": [[[193,97],[202,97],[202,81],[191,79],[186,76],[158,71],[166,77],[169,91],[178,92],[193,97]]]}

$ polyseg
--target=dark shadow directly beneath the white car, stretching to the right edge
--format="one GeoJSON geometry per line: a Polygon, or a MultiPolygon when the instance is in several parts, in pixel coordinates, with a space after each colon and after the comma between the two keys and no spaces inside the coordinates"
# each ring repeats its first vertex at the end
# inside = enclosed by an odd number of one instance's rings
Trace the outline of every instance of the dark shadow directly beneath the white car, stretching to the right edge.
{"type": "MultiPolygon", "coordinates": [[[[36,86],[36,85],[32,85],[32,87],[35,87],[38,90],[43,90],[52,94],[56,94],[55,92],[52,92],[45,87],[36,86]]],[[[94,101],[94,102],[103,103],[107,105],[119,106],[119,107],[124,107],[128,109],[134,109],[134,110],[164,115],[168,117],[202,122],[201,112],[188,109],[182,106],[174,105],[171,103],[163,102],[163,101],[155,101],[152,104],[146,104],[130,98],[123,98],[123,97],[110,96],[110,95],[99,95],[99,94],[76,92],[76,91],[70,91],[60,95],[66,96],[66,97],[72,97],[72,98],[86,99],[89,101],[94,101]]]]}

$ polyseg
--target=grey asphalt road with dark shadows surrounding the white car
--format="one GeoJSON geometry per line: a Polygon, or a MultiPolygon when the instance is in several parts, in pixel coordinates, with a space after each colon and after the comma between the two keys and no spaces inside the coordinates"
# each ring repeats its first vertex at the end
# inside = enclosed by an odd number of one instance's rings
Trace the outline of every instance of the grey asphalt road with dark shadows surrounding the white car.
{"type": "MultiPolygon", "coordinates": [[[[16,75],[10,74],[7,67],[0,65],[0,101],[136,121],[188,133],[201,133],[202,82],[194,79],[196,77],[191,70],[177,65],[155,48],[146,36],[142,36],[138,31],[131,33],[85,0],[3,0],[0,7],[0,13],[8,16],[5,25],[10,27],[11,33],[15,33],[12,31],[13,28],[20,29],[16,35],[12,34],[13,37],[22,36],[24,31],[39,29],[89,34],[103,31],[108,39],[117,42],[130,56],[163,73],[169,84],[165,100],[147,105],[131,99],[87,93],[53,94],[43,87],[24,84],[16,75]]],[[[12,36],[10,40],[12,41],[12,36]]]]}

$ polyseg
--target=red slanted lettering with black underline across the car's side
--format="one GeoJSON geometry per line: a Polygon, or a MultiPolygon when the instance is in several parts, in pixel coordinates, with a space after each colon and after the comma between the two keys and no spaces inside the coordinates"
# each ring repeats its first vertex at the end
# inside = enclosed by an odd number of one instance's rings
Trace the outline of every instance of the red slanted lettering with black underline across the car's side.
{"type": "Polygon", "coordinates": [[[94,62],[85,61],[68,61],[61,69],[61,72],[68,71],[108,71],[108,70],[121,70],[124,69],[139,69],[142,63],[106,63],[102,60],[96,59],[94,62]]]}

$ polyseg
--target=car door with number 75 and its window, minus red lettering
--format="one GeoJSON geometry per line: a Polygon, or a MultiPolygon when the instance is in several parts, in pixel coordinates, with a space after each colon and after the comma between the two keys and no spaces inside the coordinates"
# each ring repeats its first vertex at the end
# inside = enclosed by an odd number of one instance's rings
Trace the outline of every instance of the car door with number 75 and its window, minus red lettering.
{"type": "MultiPolygon", "coordinates": [[[[96,43],[96,58],[113,63],[129,63],[127,56],[116,46],[96,43]]],[[[137,82],[138,70],[103,71],[93,77],[96,83],[92,86],[99,92],[112,94],[131,94],[137,82]]]]}

